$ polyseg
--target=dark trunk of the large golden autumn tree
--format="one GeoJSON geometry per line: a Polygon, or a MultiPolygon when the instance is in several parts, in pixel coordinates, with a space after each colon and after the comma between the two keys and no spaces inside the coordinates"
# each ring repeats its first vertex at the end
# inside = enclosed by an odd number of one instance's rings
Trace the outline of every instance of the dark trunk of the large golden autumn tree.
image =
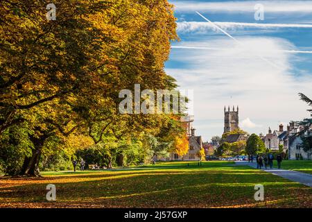
{"type": "Polygon", "coordinates": [[[23,167],[21,169],[21,175],[25,176],[40,176],[39,171],[39,162],[42,154],[42,147],[44,144],[44,140],[42,138],[31,138],[33,145],[33,153],[31,157],[25,157],[23,167]]]}

